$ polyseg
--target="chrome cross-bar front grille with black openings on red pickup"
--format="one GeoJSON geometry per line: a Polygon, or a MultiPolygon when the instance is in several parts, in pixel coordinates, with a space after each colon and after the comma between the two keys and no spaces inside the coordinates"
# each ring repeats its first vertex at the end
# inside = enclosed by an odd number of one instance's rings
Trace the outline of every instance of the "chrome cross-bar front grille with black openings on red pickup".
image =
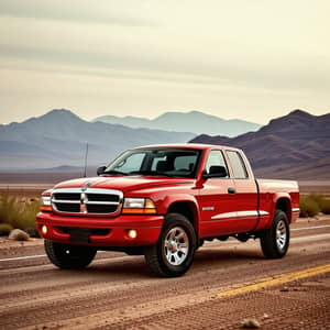
{"type": "Polygon", "coordinates": [[[58,213],[109,216],[120,211],[123,194],[100,188],[62,188],[52,193],[52,207],[58,213]]]}

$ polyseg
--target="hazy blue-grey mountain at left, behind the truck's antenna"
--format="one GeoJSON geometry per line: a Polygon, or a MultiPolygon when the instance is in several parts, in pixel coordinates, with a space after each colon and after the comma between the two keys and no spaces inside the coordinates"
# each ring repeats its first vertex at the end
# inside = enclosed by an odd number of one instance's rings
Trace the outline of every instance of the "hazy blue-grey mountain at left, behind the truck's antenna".
{"type": "Polygon", "coordinates": [[[89,143],[89,164],[105,164],[127,148],[187,142],[194,136],[193,133],[88,122],[69,110],[53,110],[21,123],[0,125],[0,168],[81,166],[86,142],[89,143]]]}

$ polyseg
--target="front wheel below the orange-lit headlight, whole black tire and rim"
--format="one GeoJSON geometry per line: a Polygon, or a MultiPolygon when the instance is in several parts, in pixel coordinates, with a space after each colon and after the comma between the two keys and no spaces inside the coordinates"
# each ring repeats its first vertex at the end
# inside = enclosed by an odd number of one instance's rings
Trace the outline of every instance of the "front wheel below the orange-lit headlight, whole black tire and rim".
{"type": "Polygon", "coordinates": [[[156,244],[145,248],[145,262],[154,275],[177,277],[193,264],[197,239],[186,217],[168,213],[156,244]]]}

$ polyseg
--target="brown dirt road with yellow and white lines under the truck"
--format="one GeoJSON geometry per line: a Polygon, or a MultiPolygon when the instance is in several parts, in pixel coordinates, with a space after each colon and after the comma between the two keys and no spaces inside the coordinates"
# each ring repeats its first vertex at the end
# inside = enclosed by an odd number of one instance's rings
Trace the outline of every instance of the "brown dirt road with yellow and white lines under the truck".
{"type": "Polygon", "coordinates": [[[258,242],[210,242],[180,278],[143,257],[99,253],[85,271],[48,264],[42,242],[0,244],[0,329],[330,329],[330,218],[293,226],[283,260],[258,242]]]}

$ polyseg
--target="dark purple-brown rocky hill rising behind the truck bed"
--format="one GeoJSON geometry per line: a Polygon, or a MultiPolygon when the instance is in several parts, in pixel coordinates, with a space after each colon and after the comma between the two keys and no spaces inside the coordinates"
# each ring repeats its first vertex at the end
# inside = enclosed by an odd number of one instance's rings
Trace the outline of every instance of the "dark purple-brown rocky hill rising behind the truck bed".
{"type": "Polygon", "coordinates": [[[257,176],[330,178],[330,113],[312,116],[295,110],[272,120],[257,132],[234,139],[202,134],[190,142],[242,148],[257,176]]]}

